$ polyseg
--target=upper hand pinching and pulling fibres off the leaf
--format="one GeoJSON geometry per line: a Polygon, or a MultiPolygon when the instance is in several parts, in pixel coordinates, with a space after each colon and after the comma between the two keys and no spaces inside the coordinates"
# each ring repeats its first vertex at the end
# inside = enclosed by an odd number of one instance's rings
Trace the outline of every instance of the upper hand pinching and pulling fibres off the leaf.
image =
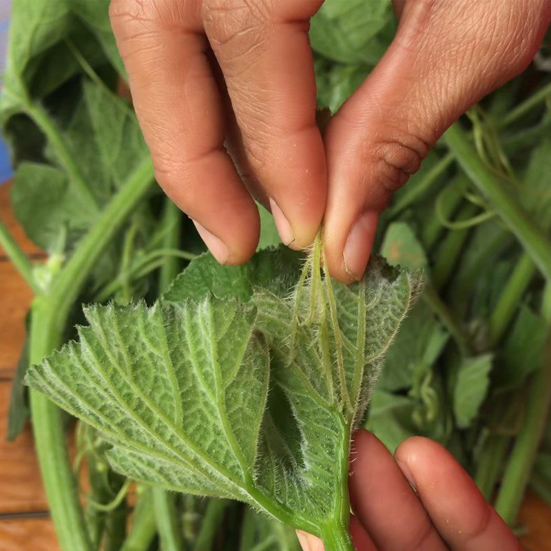
{"type": "Polygon", "coordinates": [[[216,258],[245,262],[258,211],[360,278],[377,217],[468,107],[521,72],[548,0],[408,0],[396,37],[333,117],[315,124],[309,19],[321,0],[113,0],[112,27],[158,183],[216,258]],[[230,155],[226,152],[227,144],[230,155]]]}

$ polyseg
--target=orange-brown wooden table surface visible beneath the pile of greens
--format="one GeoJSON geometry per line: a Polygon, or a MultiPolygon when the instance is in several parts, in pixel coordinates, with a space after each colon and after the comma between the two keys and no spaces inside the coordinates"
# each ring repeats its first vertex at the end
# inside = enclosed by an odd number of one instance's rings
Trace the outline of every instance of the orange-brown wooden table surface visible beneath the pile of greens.
{"type": "MultiPolygon", "coordinates": [[[[17,224],[10,210],[9,184],[0,185],[0,219],[33,260],[45,258],[17,224]]],[[[11,382],[25,337],[23,320],[32,293],[0,247],[0,551],[58,551],[42,488],[32,434],[6,441],[11,382]]],[[[529,493],[519,518],[530,551],[551,551],[551,509],[529,493]]],[[[499,551],[499,550],[488,550],[499,551]]]]}

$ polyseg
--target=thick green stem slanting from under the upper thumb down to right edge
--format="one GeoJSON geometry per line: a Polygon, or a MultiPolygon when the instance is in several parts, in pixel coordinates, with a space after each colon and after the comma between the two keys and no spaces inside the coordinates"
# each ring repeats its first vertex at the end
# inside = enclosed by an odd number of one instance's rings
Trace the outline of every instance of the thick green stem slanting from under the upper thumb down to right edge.
{"type": "Polygon", "coordinates": [[[534,224],[532,218],[508,193],[503,183],[477,155],[458,123],[446,132],[446,141],[459,165],[488,198],[492,209],[503,219],[510,231],[517,236],[526,252],[537,264],[547,280],[551,280],[551,242],[545,232],[534,224]]]}

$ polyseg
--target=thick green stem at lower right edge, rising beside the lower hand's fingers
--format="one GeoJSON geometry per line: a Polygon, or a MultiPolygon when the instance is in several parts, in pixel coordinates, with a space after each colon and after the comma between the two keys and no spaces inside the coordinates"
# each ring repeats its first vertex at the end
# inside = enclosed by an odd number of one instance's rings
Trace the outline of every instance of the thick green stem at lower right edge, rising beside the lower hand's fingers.
{"type": "MultiPolygon", "coordinates": [[[[551,293],[548,282],[545,295],[551,293]]],[[[551,301],[544,300],[543,317],[551,325],[551,301]]],[[[546,345],[545,361],[534,373],[526,399],[526,417],[523,426],[514,441],[507,463],[501,488],[495,502],[495,509],[509,525],[517,519],[539,443],[545,430],[548,411],[551,405],[551,338],[546,345]]]]}

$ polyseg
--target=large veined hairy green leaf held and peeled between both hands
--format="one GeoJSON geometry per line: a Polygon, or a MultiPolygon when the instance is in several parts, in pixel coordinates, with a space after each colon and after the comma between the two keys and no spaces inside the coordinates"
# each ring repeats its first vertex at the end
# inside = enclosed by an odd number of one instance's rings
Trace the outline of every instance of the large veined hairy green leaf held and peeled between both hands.
{"type": "Polygon", "coordinates": [[[316,255],[302,275],[286,255],[238,269],[202,256],[160,304],[92,306],[79,344],[28,383],[101,430],[128,477],[324,534],[348,516],[351,430],[420,277],[374,258],[346,287],[316,255]],[[298,284],[283,285],[291,273],[298,284]]]}

